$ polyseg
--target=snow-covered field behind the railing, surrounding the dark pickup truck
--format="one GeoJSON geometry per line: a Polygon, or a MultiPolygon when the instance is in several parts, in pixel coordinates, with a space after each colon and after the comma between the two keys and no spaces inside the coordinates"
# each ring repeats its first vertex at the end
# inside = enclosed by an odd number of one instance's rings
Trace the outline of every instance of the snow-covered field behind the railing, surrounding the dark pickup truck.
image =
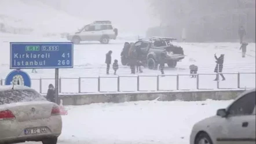
{"type": "MultiPolygon", "coordinates": [[[[25,35],[3,35],[0,41],[0,79],[5,79],[9,69],[9,42],[64,42],[65,39],[56,37],[25,36],[25,35]]],[[[109,45],[101,45],[99,42],[85,42],[74,46],[74,68],[60,69],[61,93],[78,93],[79,77],[81,77],[80,92],[95,93],[98,91],[98,76],[100,79],[100,91],[117,91],[118,80],[114,75],[105,75],[105,54],[112,50],[112,61],[119,60],[118,75],[120,77],[120,91],[137,91],[137,75],[130,75],[130,68],[120,64],[120,52],[124,40],[112,40],[109,45]],[[125,77],[122,77],[125,76],[125,77]],[[94,77],[94,78],[93,78],[94,77]],[[64,79],[65,78],[65,79],[64,79]],[[66,79],[69,78],[69,79],[66,79]],[[111,84],[109,84],[111,83],[111,84]],[[70,87],[72,84],[72,87],[70,87]]],[[[255,43],[249,43],[246,58],[242,58],[239,43],[174,43],[184,48],[185,59],[178,62],[177,68],[164,69],[166,75],[181,75],[179,77],[180,90],[195,90],[196,79],[189,78],[189,65],[196,64],[199,67],[199,88],[216,89],[217,82],[213,81],[215,67],[214,53],[217,56],[225,54],[224,73],[226,80],[220,81],[220,88],[237,88],[237,72],[240,74],[240,87],[255,87],[255,43]],[[252,73],[248,73],[252,72],[252,73]],[[206,75],[207,74],[207,75],[206,75]]],[[[40,91],[39,78],[42,78],[41,93],[46,93],[47,86],[54,84],[54,69],[38,69],[38,73],[31,73],[31,69],[25,70],[32,78],[32,87],[40,91]]],[[[113,73],[112,69],[110,71],[113,73]]],[[[155,91],[157,86],[156,70],[144,69],[140,75],[140,91],[155,91]]],[[[4,82],[4,81],[3,81],[4,82]]],[[[176,90],[177,77],[159,77],[159,90],[176,90]]]]}

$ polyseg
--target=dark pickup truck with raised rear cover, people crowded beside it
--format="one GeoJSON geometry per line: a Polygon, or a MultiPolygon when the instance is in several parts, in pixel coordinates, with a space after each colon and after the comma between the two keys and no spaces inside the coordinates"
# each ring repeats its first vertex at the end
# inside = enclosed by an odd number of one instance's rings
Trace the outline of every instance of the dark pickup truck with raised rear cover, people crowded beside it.
{"type": "Polygon", "coordinates": [[[129,65],[134,57],[129,57],[129,51],[134,49],[137,53],[137,61],[141,61],[144,67],[155,69],[160,61],[160,54],[165,53],[165,64],[170,68],[175,68],[178,61],[181,61],[185,55],[182,47],[171,44],[175,38],[152,37],[147,40],[139,39],[136,43],[130,45],[125,43],[121,53],[122,65],[129,65]]]}

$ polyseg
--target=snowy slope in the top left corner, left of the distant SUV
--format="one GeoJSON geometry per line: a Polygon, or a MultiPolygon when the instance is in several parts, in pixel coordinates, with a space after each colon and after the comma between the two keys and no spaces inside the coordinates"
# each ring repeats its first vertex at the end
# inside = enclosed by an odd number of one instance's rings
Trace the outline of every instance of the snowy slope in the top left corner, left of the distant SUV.
{"type": "Polygon", "coordinates": [[[85,23],[36,0],[0,3],[0,33],[56,35],[75,31],[85,23]]]}

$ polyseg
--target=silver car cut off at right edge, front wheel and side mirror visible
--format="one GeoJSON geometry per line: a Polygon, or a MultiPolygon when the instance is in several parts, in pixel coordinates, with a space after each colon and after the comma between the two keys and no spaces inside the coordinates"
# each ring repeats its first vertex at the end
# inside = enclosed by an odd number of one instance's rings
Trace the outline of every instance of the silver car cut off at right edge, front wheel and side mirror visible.
{"type": "Polygon", "coordinates": [[[217,116],[196,123],[191,144],[255,144],[255,88],[246,91],[217,116]]]}

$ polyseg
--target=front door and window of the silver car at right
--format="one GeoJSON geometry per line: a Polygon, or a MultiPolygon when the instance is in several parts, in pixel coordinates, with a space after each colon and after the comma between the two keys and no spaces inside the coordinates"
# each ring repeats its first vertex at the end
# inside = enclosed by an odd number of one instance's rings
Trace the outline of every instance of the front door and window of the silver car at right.
{"type": "Polygon", "coordinates": [[[227,109],[220,120],[218,144],[255,144],[255,91],[243,95],[227,109]]]}

